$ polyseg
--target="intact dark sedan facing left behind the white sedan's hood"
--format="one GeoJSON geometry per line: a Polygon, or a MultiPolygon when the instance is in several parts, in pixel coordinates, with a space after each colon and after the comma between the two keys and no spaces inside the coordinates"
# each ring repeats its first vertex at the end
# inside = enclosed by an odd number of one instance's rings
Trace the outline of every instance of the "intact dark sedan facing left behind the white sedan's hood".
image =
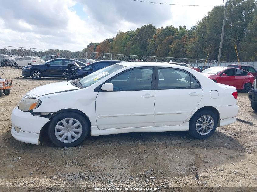
{"type": "MultiPolygon", "coordinates": [[[[62,74],[67,68],[68,63],[76,61],[74,59],[52,59],[39,65],[28,65],[22,68],[21,75],[40,79],[41,77],[63,77],[62,74]]],[[[78,65],[85,66],[85,63],[76,61],[78,65]]]]}

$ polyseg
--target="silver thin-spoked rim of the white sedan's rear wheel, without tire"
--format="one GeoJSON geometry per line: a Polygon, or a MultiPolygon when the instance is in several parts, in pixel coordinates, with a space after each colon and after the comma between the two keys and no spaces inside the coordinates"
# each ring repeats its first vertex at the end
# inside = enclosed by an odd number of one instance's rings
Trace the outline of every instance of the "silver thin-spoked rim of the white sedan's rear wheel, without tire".
{"type": "Polygon", "coordinates": [[[196,131],[200,135],[207,135],[214,126],[213,118],[209,115],[201,116],[196,122],[196,131]]]}

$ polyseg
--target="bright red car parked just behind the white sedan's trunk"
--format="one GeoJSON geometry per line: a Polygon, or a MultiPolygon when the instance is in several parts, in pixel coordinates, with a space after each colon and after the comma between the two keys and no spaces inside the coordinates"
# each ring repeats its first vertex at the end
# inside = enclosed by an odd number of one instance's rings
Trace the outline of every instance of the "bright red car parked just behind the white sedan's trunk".
{"type": "Polygon", "coordinates": [[[255,79],[251,73],[234,67],[210,67],[201,73],[216,83],[233,86],[245,93],[250,91],[255,79]]]}

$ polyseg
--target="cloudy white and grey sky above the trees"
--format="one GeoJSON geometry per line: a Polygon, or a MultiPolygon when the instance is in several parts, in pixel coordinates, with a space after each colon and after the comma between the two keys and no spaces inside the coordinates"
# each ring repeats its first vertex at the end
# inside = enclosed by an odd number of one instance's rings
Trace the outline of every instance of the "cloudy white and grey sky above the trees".
{"type": "MultiPolygon", "coordinates": [[[[221,5],[222,0],[149,0],[221,5]]],[[[212,7],[160,5],[131,0],[0,0],[0,45],[79,51],[146,24],[190,29],[212,7]]]]}

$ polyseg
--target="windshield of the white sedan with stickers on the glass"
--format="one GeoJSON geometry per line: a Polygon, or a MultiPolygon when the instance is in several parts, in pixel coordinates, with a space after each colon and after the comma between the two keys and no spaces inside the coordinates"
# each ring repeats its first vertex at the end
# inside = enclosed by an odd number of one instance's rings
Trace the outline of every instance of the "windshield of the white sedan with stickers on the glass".
{"type": "Polygon", "coordinates": [[[80,79],[79,84],[81,84],[82,88],[88,87],[93,85],[94,83],[98,82],[102,78],[112,74],[113,72],[118,71],[119,69],[122,69],[124,66],[113,64],[108,67],[102,68],[96,72],[93,72],[89,74],[88,76],[85,76],[84,78],[80,79]]]}

